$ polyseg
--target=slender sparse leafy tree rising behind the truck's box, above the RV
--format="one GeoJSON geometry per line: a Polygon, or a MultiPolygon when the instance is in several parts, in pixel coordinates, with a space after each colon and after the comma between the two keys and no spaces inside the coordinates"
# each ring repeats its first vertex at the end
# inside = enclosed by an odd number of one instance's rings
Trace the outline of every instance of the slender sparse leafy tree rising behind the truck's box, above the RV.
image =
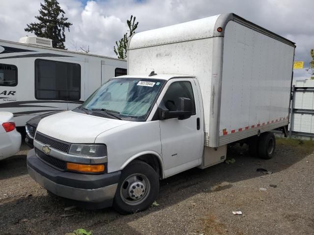
{"type": "Polygon", "coordinates": [[[127,20],[127,24],[129,26],[130,35],[128,33],[123,35],[123,38],[119,40],[119,43],[116,41],[117,47],[113,47],[114,53],[118,56],[119,59],[126,59],[127,58],[127,47],[128,42],[131,36],[135,33],[135,29],[137,28],[138,22],[135,23],[135,16],[131,15],[130,20],[127,20]],[[133,20],[133,21],[132,21],[133,20]]]}

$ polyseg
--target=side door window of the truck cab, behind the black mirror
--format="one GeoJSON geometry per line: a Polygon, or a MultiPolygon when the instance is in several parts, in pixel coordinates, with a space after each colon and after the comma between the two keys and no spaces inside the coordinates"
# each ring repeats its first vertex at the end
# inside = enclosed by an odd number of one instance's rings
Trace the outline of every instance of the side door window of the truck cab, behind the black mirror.
{"type": "Polygon", "coordinates": [[[180,97],[189,98],[192,101],[192,115],[195,115],[195,100],[192,85],[188,81],[172,83],[163,96],[163,103],[169,111],[179,111],[180,97]]]}

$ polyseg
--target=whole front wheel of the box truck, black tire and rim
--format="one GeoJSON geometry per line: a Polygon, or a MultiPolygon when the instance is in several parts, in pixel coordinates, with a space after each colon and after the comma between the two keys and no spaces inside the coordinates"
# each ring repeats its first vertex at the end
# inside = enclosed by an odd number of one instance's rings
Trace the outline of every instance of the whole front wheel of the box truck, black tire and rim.
{"type": "Polygon", "coordinates": [[[121,173],[113,207],[123,214],[146,210],[156,200],[158,191],[159,179],[154,168],[134,161],[121,173]]]}

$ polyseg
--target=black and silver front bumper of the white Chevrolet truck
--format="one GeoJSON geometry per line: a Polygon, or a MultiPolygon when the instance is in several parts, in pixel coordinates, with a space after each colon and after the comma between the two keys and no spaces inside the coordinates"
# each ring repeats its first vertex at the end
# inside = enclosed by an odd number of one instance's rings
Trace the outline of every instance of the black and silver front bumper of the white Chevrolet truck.
{"type": "Polygon", "coordinates": [[[80,202],[112,205],[121,171],[101,175],[62,172],[44,163],[34,149],[27,153],[28,174],[53,194],[80,202]]]}

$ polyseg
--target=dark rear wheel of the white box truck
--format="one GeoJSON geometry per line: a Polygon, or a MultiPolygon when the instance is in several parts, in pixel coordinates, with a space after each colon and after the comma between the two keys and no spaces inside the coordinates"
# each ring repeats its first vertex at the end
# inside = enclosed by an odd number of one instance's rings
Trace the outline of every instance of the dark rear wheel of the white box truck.
{"type": "Polygon", "coordinates": [[[272,132],[262,133],[259,140],[259,157],[262,159],[271,159],[274,156],[276,148],[275,135],[272,132]]]}

